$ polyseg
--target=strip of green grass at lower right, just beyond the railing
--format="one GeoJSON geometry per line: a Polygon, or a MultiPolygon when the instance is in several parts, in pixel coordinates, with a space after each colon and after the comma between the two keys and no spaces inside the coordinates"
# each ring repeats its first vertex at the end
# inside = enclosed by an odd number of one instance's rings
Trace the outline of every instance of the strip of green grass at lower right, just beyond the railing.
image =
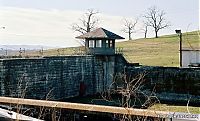
{"type": "Polygon", "coordinates": [[[149,108],[150,110],[155,110],[155,111],[169,111],[169,112],[184,112],[193,114],[200,114],[200,107],[192,107],[188,106],[173,106],[173,105],[166,105],[166,104],[155,104],[149,108]]]}

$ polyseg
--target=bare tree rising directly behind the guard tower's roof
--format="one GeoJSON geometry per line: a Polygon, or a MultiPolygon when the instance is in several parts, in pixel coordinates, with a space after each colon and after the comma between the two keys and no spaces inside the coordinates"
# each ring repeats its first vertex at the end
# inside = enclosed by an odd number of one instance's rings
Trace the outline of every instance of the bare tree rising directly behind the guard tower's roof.
{"type": "Polygon", "coordinates": [[[90,32],[97,26],[99,22],[99,19],[95,17],[95,14],[97,13],[99,12],[96,10],[88,9],[88,11],[84,14],[84,16],[79,19],[81,24],[74,23],[72,25],[72,30],[80,32],[81,34],[90,32]]]}

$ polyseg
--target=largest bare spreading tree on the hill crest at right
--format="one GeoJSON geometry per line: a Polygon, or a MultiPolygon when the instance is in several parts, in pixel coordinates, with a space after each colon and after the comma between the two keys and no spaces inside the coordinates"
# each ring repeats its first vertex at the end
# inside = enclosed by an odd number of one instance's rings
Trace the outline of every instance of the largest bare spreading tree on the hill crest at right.
{"type": "Polygon", "coordinates": [[[147,21],[147,25],[153,27],[155,37],[158,38],[158,31],[170,26],[169,22],[165,20],[166,13],[163,10],[159,10],[156,6],[148,9],[144,18],[147,21]]]}

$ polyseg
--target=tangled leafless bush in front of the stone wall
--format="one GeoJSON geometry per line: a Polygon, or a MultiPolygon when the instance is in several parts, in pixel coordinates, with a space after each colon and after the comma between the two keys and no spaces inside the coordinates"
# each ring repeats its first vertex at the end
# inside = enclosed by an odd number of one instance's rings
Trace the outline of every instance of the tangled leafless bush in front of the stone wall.
{"type": "MultiPolygon", "coordinates": [[[[159,102],[155,94],[155,87],[152,91],[143,90],[146,73],[137,76],[127,76],[126,73],[118,73],[113,79],[109,89],[101,94],[103,100],[114,103],[124,108],[148,108],[159,102]],[[114,96],[115,95],[115,96],[114,96]],[[118,97],[118,99],[116,99],[118,97]]],[[[131,114],[116,114],[114,118],[120,121],[146,121],[147,116],[133,116],[131,114]]]]}

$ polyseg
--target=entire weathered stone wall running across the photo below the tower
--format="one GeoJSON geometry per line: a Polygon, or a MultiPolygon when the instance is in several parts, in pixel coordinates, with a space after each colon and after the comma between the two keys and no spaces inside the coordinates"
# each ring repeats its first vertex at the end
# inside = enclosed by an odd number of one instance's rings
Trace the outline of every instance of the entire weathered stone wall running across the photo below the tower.
{"type": "Polygon", "coordinates": [[[200,68],[136,67],[120,54],[1,59],[0,95],[51,100],[92,95],[105,91],[117,73],[133,78],[145,73],[143,90],[154,89],[164,100],[177,94],[200,99],[200,68]]]}

